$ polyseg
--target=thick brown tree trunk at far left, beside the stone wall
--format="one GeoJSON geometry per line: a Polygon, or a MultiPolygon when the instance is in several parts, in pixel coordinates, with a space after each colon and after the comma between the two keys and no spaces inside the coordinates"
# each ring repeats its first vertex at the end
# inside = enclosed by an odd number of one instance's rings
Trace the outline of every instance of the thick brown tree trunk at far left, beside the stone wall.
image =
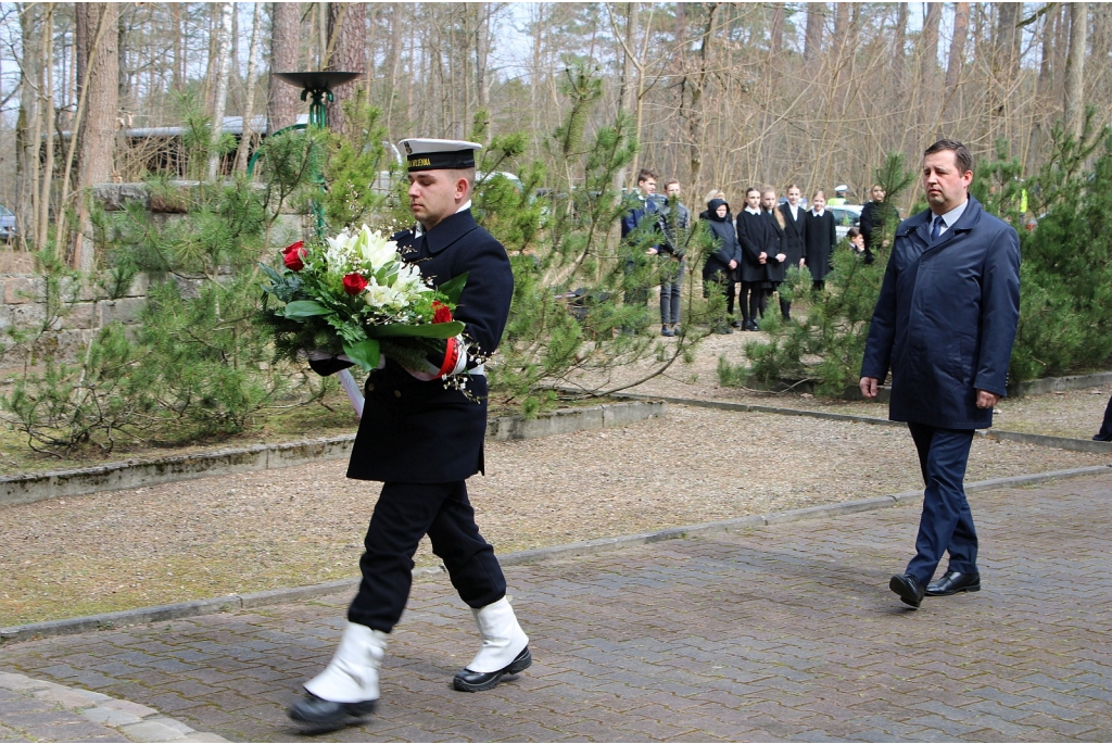
{"type": "MultiPolygon", "coordinates": [[[[108,181],[112,176],[112,149],[119,118],[119,49],[116,46],[119,39],[119,8],[111,2],[78,3],[77,7],[78,61],[83,69],[78,70],[78,108],[73,122],[77,136],[75,191],[78,194],[78,229],[69,264],[82,271],[92,269],[96,256],[92,242],[85,238],[90,226],[88,199],[81,191],[93,183],[108,181]]],[[[67,162],[63,194],[69,183],[69,168],[67,162]]],[[[64,226],[62,211],[58,218],[59,241],[66,238],[64,226]]]]}

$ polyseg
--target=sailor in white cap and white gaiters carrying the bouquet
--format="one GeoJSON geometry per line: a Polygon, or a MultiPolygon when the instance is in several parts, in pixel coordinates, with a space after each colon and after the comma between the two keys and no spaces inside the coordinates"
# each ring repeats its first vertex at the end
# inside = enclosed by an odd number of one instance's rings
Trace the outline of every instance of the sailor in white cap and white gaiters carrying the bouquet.
{"type": "MultiPolygon", "coordinates": [[[[348,477],[384,482],[359,561],[363,582],[327,668],[305,684],[290,717],[318,728],[346,725],[371,713],[388,634],[409,596],[413,556],[426,534],[451,584],[471,607],[481,649],[456,674],[456,690],[497,685],[532,663],[528,638],[506,599],[494,548],[479,534],[466,478],[483,470],[487,384],[481,361],[498,346],[509,316],[514,277],[506,250],[475,222],[470,195],[475,150],[455,140],[403,140],[409,170],[414,230],[394,236],[399,252],[434,286],[467,275],[455,319],[465,326],[470,358],[433,360],[410,370],[387,359],[370,374],[348,477]],[[458,370],[463,385],[445,377],[458,370]],[[459,388],[468,391],[465,395],[459,388]]],[[[312,363],[331,374],[346,363],[312,363]]]]}

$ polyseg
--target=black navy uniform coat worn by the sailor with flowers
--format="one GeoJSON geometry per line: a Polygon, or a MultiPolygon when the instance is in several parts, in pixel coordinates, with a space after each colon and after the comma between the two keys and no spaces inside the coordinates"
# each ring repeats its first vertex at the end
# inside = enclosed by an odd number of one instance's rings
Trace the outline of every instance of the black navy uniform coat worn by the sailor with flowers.
{"type": "MultiPolygon", "coordinates": [[[[470,210],[446,218],[425,238],[406,230],[399,252],[434,286],[467,274],[455,318],[471,351],[498,348],[509,317],[514,275],[506,249],[476,224],[470,210]]],[[[387,355],[386,367],[367,378],[363,419],[347,476],[361,480],[451,483],[483,470],[487,383],[469,375],[470,399],[441,380],[413,377],[387,355]]]]}

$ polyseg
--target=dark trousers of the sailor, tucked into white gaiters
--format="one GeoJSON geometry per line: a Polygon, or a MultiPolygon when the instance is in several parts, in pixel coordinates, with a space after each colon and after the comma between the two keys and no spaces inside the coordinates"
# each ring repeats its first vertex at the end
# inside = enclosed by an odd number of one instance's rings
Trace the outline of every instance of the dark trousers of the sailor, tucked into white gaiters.
{"type": "Polygon", "coordinates": [[[426,534],[468,606],[485,607],[506,596],[506,578],[475,524],[465,482],[387,483],[367,528],[359,558],[363,582],[348,607],[349,621],[384,633],[397,625],[413,585],[414,553],[426,534]]]}

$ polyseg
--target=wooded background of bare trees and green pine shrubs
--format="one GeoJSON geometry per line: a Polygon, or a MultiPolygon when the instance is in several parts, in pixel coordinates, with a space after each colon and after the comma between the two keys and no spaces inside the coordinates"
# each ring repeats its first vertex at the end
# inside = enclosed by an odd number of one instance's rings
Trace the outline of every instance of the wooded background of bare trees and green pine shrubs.
{"type": "MultiPolygon", "coordinates": [[[[619,333],[645,329],[652,313],[617,299],[659,280],[643,259],[627,270],[651,236],[616,239],[639,167],[662,186],[678,178],[695,214],[712,188],[736,210],[752,185],[832,196],[846,182],[854,202],[878,180],[906,215],[921,152],[940,137],[969,143],[974,194],[992,211],[1017,227],[1045,216],[1022,230],[1013,376],[1112,358],[1108,4],[0,3],[0,202],[18,226],[0,254],[36,257],[47,307],[33,333],[0,328],[3,353],[22,354],[0,410],[36,452],[110,450],[168,421],[178,438],[219,436],[325,399],[327,381],[266,364],[251,324],[272,195],[296,201],[320,162],[305,149],[311,135],[291,148],[275,137],[265,198],[245,175],[260,137],[307,110],[272,75],[296,70],[359,73],[336,89],[337,136],[319,145],[330,148],[330,229],[406,218],[404,200],[359,186],[396,169],[384,143],[403,137],[478,139],[480,167],[522,177],[517,191],[484,185],[477,208],[517,282],[492,389],[526,413],[568,385],[613,390],[615,367],[661,374],[689,358],[706,333],[697,321],[718,311],[721,298],[697,288],[696,236],[685,334],[665,346],[619,333]],[[238,142],[210,126],[228,117],[241,118],[238,142]],[[181,133],[135,136],[163,127],[181,133]],[[165,189],[182,175],[201,188],[177,228],[135,210],[106,217],[88,198],[95,183],[165,189]],[[139,330],[108,325],[79,358],[52,354],[43,339],[82,291],[111,300],[140,271],[153,278],[139,330]],[[577,287],[586,294],[568,313],[577,287]]],[[[838,394],[855,379],[883,260],[851,258],[803,321],[770,318],[767,340],[746,345],[749,366],[724,364],[723,384],[814,377],[838,394]]]]}

